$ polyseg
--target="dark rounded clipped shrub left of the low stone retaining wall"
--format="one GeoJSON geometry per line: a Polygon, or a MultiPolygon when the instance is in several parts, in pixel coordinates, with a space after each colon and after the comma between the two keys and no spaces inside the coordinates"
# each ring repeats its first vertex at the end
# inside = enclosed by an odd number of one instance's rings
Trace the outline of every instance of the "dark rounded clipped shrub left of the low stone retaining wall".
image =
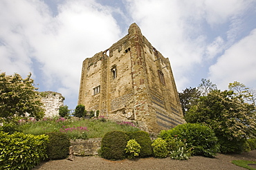
{"type": "Polygon", "coordinates": [[[68,136],[60,132],[49,132],[49,143],[47,145],[47,155],[50,160],[64,159],[68,156],[71,145],[68,136]]]}

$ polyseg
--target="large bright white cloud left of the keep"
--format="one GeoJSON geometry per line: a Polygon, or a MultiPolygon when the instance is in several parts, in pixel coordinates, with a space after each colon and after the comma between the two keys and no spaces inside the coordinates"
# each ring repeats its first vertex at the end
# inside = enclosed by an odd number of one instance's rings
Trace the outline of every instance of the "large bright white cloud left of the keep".
{"type": "Polygon", "coordinates": [[[77,100],[82,61],[118,41],[120,28],[111,8],[95,1],[66,1],[58,10],[54,17],[42,1],[0,2],[0,69],[35,74],[36,60],[40,86],[77,100]]]}

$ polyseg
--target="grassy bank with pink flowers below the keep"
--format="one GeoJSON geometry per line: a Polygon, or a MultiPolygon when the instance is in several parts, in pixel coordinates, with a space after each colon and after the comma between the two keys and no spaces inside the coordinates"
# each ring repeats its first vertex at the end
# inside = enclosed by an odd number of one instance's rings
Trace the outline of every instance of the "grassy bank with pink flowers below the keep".
{"type": "Polygon", "coordinates": [[[102,138],[109,131],[138,131],[135,123],[114,122],[106,118],[43,118],[21,120],[19,130],[24,134],[40,135],[51,131],[66,133],[69,138],[102,138]]]}

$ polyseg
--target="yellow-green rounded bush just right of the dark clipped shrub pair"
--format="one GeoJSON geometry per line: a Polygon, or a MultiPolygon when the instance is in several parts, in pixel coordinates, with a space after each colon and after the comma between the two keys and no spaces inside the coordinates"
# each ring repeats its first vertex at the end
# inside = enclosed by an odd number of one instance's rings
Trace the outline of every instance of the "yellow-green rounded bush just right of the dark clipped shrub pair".
{"type": "Polygon", "coordinates": [[[157,138],[152,143],[154,157],[156,158],[166,158],[169,151],[167,150],[167,142],[162,138],[157,138]]]}

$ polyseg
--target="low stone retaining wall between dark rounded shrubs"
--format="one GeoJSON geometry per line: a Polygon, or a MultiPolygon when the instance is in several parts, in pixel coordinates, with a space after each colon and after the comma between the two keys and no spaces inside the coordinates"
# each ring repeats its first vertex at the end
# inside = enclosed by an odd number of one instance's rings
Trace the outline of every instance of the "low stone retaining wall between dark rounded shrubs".
{"type": "Polygon", "coordinates": [[[73,154],[75,156],[96,156],[98,155],[98,149],[100,149],[101,140],[102,138],[71,140],[71,146],[73,146],[73,154]]]}

